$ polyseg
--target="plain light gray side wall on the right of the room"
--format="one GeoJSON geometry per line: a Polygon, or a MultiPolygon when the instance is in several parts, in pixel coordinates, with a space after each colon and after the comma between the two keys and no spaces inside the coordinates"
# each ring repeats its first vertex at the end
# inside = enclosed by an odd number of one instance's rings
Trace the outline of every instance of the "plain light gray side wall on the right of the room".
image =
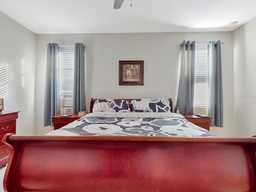
{"type": "Polygon", "coordinates": [[[256,18],[233,32],[234,47],[234,132],[256,135],[256,18]]]}

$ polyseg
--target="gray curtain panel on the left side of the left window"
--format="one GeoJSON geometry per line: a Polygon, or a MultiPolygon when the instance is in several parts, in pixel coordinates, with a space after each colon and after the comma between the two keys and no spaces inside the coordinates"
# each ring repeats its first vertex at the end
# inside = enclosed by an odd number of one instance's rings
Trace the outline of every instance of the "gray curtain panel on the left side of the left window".
{"type": "Polygon", "coordinates": [[[44,92],[44,126],[53,126],[52,116],[60,114],[59,52],[58,44],[48,43],[44,92]]]}

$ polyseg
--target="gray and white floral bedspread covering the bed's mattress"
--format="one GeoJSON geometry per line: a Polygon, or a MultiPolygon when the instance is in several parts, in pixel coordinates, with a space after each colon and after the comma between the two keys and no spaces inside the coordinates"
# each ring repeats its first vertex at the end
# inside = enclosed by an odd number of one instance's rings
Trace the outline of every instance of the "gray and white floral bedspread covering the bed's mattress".
{"type": "Polygon", "coordinates": [[[47,135],[216,136],[170,112],[94,112],[47,135]]]}

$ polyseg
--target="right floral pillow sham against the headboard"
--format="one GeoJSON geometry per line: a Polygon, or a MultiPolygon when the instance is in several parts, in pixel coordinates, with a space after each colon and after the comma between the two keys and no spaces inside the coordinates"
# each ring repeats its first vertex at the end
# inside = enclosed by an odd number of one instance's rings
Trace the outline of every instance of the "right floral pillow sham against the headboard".
{"type": "Polygon", "coordinates": [[[133,112],[171,112],[167,98],[136,99],[131,104],[133,112]]]}

